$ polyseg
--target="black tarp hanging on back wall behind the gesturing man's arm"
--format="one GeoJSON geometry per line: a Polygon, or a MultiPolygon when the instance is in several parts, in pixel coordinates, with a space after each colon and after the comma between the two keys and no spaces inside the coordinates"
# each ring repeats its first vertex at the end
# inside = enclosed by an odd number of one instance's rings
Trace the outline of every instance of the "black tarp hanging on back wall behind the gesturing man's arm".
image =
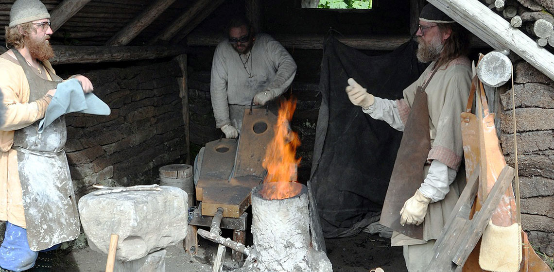
{"type": "Polygon", "coordinates": [[[402,90],[425,69],[416,49],[411,40],[391,53],[370,57],[333,37],[325,41],[310,180],[327,238],[356,234],[377,220],[402,137],[351,104],[347,79],[375,96],[402,98],[402,90]]]}

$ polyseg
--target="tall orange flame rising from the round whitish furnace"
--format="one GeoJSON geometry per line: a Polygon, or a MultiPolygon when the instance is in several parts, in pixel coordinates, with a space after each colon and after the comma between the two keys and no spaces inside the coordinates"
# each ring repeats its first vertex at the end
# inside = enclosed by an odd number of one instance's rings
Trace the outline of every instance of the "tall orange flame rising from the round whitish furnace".
{"type": "Polygon", "coordinates": [[[290,129],[289,123],[295,109],[296,99],[283,100],[279,107],[279,116],[274,127],[275,136],[265,151],[262,163],[268,170],[264,183],[275,182],[274,186],[266,184],[260,192],[265,199],[284,199],[300,193],[300,188],[290,186],[291,181],[296,181],[296,169],[301,159],[295,158],[300,138],[290,129]]]}

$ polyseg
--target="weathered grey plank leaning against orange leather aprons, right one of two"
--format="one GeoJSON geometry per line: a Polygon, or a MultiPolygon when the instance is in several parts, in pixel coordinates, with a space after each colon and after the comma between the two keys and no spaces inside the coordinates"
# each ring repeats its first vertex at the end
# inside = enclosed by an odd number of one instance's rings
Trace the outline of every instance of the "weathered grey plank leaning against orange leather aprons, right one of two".
{"type": "Polygon", "coordinates": [[[468,236],[464,239],[466,246],[458,249],[458,252],[454,255],[452,261],[459,266],[463,266],[468,259],[469,254],[473,251],[473,248],[481,238],[485,227],[489,224],[489,220],[493,217],[493,213],[500,203],[502,195],[506,193],[509,185],[512,183],[512,179],[515,177],[515,170],[510,166],[505,166],[500,172],[496,183],[491,189],[489,196],[485,199],[483,207],[479,213],[476,213],[472,219],[472,226],[469,229],[468,236]]]}

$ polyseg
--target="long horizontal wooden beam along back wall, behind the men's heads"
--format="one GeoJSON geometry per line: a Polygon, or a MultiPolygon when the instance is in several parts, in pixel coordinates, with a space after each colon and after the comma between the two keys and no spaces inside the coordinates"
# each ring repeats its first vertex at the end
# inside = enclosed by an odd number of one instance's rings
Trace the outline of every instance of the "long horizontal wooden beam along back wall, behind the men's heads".
{"type": "MultiPolygon", "coordinates": [[[[322,49],[324,35],[283,35],[276,34],[274,38],[285,48],[295,49],[322,49]]],[[[192,33],[187,39],[188,46],[216,46],[224,39],[222,35],[192,33]]],[[[408,35],[402,36],[374,36],[374,37],[337,37],[337,39],[350,47],[359,50],[394,50],[409,40],[408,35]]],[[[474,48],[487,47],[479,39],[473,37],[471,46],[474,48]]]]}

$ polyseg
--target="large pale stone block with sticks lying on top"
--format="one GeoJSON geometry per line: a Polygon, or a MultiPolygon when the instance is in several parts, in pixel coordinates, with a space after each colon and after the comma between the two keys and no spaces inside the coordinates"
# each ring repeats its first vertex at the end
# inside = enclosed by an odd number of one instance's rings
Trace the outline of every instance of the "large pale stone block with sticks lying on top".
{"type": "Polygon", "coordinates": [[[79,201],[81,224],[91,249],[107,254],[110,234],[119,235],[116,258],[131,261],[183,240],[187,193],[177,187],[95,196],[79,201]]]}

